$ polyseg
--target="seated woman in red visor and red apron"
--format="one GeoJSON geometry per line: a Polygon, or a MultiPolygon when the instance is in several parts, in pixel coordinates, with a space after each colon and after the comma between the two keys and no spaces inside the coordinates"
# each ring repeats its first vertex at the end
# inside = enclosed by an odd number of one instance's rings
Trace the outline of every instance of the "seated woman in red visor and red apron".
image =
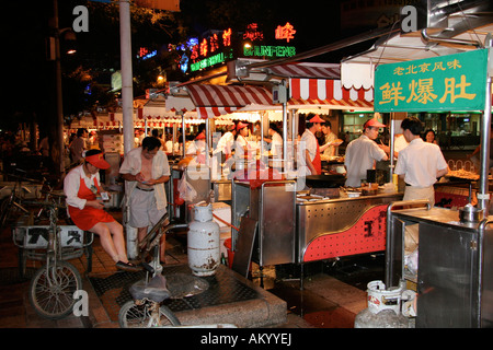
{"type": "Polygon", "coordinates": [[[103,249],[118,269],[137,271],[140,269],[128,262],[122,224],[104,211],[103,201],[96,199],[96,194],[102,192],[99,172],[108,167],[102,151],[85,152],[83,164],[72,168],[64,180],[68,213],[79,229],[100,236],[103,249]]]}

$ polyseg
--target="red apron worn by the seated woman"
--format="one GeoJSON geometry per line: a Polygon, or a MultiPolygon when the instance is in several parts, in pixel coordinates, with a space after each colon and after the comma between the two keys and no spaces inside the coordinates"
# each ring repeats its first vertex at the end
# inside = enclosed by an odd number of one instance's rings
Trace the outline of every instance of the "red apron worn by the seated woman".
{"type": "MultiPolygon", "coordinates": [[[[98,191],[101,192],[100,185],[98,184],[94,177],[94,186],[98,188],[98,191]]],[[[85,186],[84,179],[80,178],[80,187],[77,197],[85,200],[95,200],[96,196],[92,192],[88,186],[85,186]]],[[[112,222],[112,215],[105,212],[103,209],[96,209],[92,207],[84,207],[84,209],[79,209],[77,207],[68,206],[68,211],[70,219],[72,219],[73,223],[81,230],[88,231],[92,229],[99,222],[112,222]]]]}

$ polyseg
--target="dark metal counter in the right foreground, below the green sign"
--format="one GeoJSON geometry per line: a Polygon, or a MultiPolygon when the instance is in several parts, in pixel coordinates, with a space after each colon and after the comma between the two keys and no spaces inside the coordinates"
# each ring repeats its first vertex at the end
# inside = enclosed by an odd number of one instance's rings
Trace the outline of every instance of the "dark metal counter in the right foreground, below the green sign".
{"type": "Polygon", "coordinates": [[[416,327],[493,326],[492,220],[461,223],[451,209],[389,208],[386,285],[409,279],[405,229],[419,225],[416,327]]]}

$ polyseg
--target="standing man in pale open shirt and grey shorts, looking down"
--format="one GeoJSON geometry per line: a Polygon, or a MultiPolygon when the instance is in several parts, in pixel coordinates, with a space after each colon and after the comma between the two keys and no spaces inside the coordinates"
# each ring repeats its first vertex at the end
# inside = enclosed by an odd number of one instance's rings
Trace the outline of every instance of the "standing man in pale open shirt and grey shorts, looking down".
{"type": "MultiPolygon", "coordinates": [[[[167,154],[159,150],[161,141],[147,137],[142,145],[125,155],[119,174],[126,180],[125,197],[130,208],[128,224],[137,228],[139,242],[148,226],[153,226],[167,213],[164,183],[170,179],[167,154]]],[[[161,245],[163,255],[164,245],[161,245]]]]}

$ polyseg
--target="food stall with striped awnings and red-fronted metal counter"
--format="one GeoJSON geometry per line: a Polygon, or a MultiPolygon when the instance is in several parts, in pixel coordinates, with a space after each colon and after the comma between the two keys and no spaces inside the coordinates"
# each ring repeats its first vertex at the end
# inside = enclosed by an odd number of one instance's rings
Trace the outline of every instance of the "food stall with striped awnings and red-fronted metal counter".
{"type": "MultiPolygon", "coordinates": [[[[265,73],[265,69],[262,72],[265,73]]],[[[371,90],[346,90],[334,79],[340,74],[337,65],[288,63],[270,67],[267,74],[276,77],[279,82],[284,80],[282,86],[289,89],[283,92],[276,90],[279,89],[276,85],[272,94],[265,88],[248,86],[250,92],[255,91],[256,98],[250,100],[249,105],[244,102],[223,103],[234,101],[238,90],[246,89],[244,86],[191,84],[181,90],[186,90],[196,110],[207,118],[261,107],[278,110],[282,104],[283,121],[286,121],[284,140],[298,133],[298,113],[314,110],[329,114],[334,108],[370,110],[372,107],[371,90]],[[273,100],[276,95],[278,98],[273,100]]],[[[243,75],[242,80],[248,80],[248,77],[243,75]]],[[[180,90],[172,91],[172,94],[180,94],[180,90]]],[[[285,143],[289,148],[293,145],[291,142],[285,143]]],[[[280,264],[302,267],[308,261],[385,250],[386,208],[390,202],[402,199],[402,192],[391,184],[388,184],[390,187],[374,187],[371,191],[357,189],[356,192],[347,192],[341,189],[344,175],[334,174],[330,167],[318,178],[299,179],[289,172],[296,170],[294,153],[289,151],[287,154],[290,156],[285,160],[285,167],[278,168],[277,178],[220,179],[221,185],[230,188],[231,249],[237,260],[241,257],[240,270],[244,272],[251,260],[259,262],[261,268],[280,264]],[[299,182],[306,182],[307,189],[297,191],[299,182]],[[252,221],[255,223],[253,231],[246,226],[252,221]]],[[[337,166],[342,160],[328,159],[326,163],[337,166]]],[[[249,164],[244,166],[246,168],[249,164]]],[[[253,170],[259,171],[254,165],[253,170]]],[[[176,179],[182,176],[179,174],[176,179]]],[[[205,188],[210,188],[210,185],[205,188]]]]}

